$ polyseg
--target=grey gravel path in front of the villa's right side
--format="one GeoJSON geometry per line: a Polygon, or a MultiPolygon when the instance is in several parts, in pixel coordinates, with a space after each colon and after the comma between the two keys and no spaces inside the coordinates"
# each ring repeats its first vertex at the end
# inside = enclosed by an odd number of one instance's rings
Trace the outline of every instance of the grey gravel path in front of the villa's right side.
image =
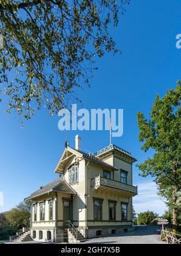
{"type": "Polygon", "coordinates": [[[119,235],[109,235],[109,237],[92,238],[84,243],[144,243],[155,244],[165,243],[160,240],[160,235],[156,234],[157,226],[135,226],[135,231],[119,235]]]}

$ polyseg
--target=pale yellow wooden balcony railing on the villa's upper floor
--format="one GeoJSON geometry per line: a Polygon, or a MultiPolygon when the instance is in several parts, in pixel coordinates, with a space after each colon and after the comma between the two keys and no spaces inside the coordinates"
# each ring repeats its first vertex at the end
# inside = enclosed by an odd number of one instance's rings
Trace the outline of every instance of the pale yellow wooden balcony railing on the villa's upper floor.
{"type": "Polygon", "coordinates": [[[91,186],[94,188],[98,188],[100,186],[107,186],[109,188],[116,188],[123,191],[131,192],[133,194],[138,194],[137,186],[132,186],[128,184],[124,184],[121,182],[117,182],[116,180],[106,179],[104,177],[98,176],[91,180],[91,186]]]}

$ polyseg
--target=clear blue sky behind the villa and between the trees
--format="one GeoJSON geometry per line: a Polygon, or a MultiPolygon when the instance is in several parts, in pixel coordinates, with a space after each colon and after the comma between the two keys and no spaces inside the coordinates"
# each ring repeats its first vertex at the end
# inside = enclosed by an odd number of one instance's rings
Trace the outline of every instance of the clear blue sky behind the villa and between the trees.
{"type": "MultiPolygon", "coordinates": [[[[181,33],[180,1],[131,0],[119,25],[112,29],[122,54],[106,54],[96,59],[98,71],[92,87],[77,91],[82,106],[91,108],[123,108],[124,134],[113,143],[132,153],[138,163],[151,152],[141,151],[138,141],[136,112],[147,114],[158,93],[164,96],[175,88],[180,79],[181,49],[176,48],[176,34],[181,33]]],[[[74,102],[75,103],[75,102],[74,102]]],[[[12,208],[31,192],[56,179],[57,165],[65,144],[65,131],[59,131],[59,117],[49,117],[42,108],[32,120],[19,126],[13,114],[4,114],[5,102],[0,105],[0,191],[4,206],[12,208]]],[[[69,131],[69,145],[74,146],[76,131],[69,131]]],[[[81,131],[82,150],[95,152],[109,144],[109,131],[81,131]]],[[[133,183],[139,195],[133,200],[136,212],[153,210],[164,213],[165,205],[156,195],[151,177],[138,176],[133,166],[133,183]]]]}

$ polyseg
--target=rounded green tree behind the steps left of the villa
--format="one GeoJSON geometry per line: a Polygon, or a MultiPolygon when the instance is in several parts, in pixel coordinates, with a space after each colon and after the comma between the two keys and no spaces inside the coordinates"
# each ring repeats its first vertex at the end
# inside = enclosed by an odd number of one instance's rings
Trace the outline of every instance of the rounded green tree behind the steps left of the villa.
{"type": "Polygon", "coordinates": [[[7,218],[10,226],[20,229],[23,226],[29,226],[30,221],[30,202],[21,202],[15,208],[6,212],[5,217],[7,218]]]}

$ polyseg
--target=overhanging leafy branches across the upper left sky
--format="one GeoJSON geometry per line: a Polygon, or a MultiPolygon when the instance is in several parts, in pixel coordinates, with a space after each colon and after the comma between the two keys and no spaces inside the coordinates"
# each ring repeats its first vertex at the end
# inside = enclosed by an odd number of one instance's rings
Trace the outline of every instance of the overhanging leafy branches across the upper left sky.
{"type": "Polygon", "coordinates": [[[0,84],[9,97],[7,112],[30,119],[42,105],[50,115],[66,107],[74,88],[89,85],[95,54],[118,51],[108,27],[118,25],[129,1],[1,1],[0,84]]]}

